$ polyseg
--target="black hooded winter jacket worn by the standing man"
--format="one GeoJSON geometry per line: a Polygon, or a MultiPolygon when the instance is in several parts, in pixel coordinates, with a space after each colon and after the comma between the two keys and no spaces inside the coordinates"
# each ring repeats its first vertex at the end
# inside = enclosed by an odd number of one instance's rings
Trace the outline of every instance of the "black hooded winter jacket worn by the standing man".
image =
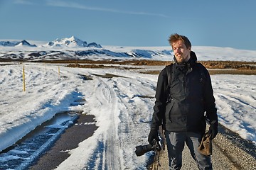
{"type": "Polygon", "coordinates": [[[188,62],[175,62],[172,70],[169,90],[166,68],[159,74],[151,130],[163,125],[164,130],[172,132],[205,132],[206,118],[210,122],[218,122],[213,88],[206,67],[197,63],[196,54],[191,52],[188,62]],[[171,100],[166,102],[169,94],[171,100]]]}

